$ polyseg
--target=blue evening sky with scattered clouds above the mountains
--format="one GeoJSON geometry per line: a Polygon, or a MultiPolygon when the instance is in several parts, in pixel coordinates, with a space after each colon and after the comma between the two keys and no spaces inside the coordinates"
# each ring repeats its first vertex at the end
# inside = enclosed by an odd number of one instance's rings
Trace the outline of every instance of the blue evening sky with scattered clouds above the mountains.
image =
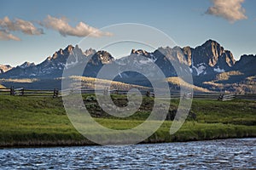
{"type": "MultiPolygon", "coordinates": [[[[255,7],[254,0],[0,0],[0,64],[38,64],[84,38],[91,43],[83,50],[100,49],[97,42],[117,35],[114,29],[104,28],[122,23],[151,26],[180,47],[195,48],[212,39],[240,59],[241,54],[256,54],[255,7]]],[[[154,34],[148,37],[161,42],[154,34]]],[[[144,45],[122,44],[150,50],[144,45]]],[[[129,54],[131,49],[120,50],[122,44],[110,54],[129,54]]]]}

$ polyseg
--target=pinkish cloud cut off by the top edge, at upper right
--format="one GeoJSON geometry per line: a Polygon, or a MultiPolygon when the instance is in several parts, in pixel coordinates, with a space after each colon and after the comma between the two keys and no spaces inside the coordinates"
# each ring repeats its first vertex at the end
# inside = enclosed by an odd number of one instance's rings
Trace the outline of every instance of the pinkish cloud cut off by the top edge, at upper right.
{"type": "Polygon", "coordinates": [[[244,0],[212,0],[213,6],[207,9],[206,14],[223,17],[231,23],[237,20],[246,20],[246,10],[241,7],[243,2],[244,0]]]}

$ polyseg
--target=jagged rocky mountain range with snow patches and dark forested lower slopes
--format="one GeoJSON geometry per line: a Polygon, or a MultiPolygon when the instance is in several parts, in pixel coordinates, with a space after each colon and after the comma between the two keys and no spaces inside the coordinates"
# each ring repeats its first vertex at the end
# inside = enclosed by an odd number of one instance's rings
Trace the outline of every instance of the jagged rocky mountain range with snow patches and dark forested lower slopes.
{"type": "MultiPolygon", "coordinates": [[[[62,77],[64,68],[68,70],[69,76],[96,77],[103,65],[120,71],[125,67],[134,68],[136,71],[146,72],[146,77],[158,76],[158,73],[153,71],[157,65],[166,77],[177,77],[175,63],[188,66],[187,72],[192,74],[194,84],[198,87],[211,91],[246,93],[255,90],[256,55],[244,54],[236,60],[229,50],[211,39],[195,48],[160,47],[154,52],[131,49],[131,54],[120,59],[114,59],[107,51],[96,51],[92,48],[83,51],[78,45],[69,45],[65,49],[59,49],[38,65],[30,62],[16,67],[0,65],[0,78],[55,79],[62,77]],[[84,68],[85,63],[87,65],[84,68]],[[81,70],[84,71],[79,72],[81,70]]],[[[115,81],[150,86],[145,75],[136,71],[121,72],[115,77],[115,81]]]]}

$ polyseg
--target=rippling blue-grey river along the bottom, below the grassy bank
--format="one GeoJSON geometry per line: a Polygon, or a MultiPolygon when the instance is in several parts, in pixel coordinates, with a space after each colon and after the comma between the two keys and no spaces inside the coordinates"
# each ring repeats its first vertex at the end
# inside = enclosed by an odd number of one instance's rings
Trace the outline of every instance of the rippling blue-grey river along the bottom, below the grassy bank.
{"type": "Polygon", "coordinates": [[[256,168],[256,138],[0,150],[1,169],[256,168]]]}

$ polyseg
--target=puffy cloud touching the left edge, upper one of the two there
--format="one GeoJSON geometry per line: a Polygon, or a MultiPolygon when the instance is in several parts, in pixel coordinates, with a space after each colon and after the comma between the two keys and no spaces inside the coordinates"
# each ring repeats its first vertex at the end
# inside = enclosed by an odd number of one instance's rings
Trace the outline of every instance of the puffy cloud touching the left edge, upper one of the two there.
{"type": "Polygon", "coordinates": [[[26,20],[9,20],[6,16],[3,20],[0,19],[0,27],[5,31],[21,31],[27,35],[41,35],[44,34],[43,29],[38,29],[32,22],[26,20]]]}

